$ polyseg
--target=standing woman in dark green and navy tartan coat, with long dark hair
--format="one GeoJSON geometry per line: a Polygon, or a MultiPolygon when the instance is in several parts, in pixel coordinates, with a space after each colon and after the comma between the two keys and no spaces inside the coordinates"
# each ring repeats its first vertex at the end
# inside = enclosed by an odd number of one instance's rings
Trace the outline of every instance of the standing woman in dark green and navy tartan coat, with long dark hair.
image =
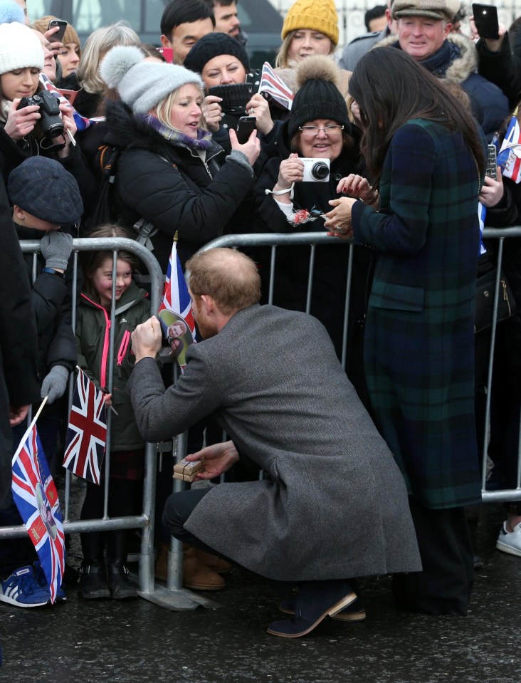
{"type": "Polygon", "coordinates": [[[392,48],[357,64],[349,93],[375,179],[349,176],[326,226],[374,249],[364,339],[375,422],[409,488],[422,573],[399,608],[466,615],[473,551],[463,506],[480,501],[473,301],[484,140],[460,103],[392,48]],[[375,189],[378,188],[378,191],[375,189]]]}

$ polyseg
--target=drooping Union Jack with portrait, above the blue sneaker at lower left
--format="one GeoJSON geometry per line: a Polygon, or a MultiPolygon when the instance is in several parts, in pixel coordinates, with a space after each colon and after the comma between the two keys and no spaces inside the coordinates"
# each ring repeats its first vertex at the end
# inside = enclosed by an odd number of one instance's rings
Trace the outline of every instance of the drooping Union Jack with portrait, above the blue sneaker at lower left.
{"type": "Polygon", "coordinates": [[[35,424],[24,434],[13,456],[12,491],[40,558],[51,591],[51,602],[54,603],[65,569],[65,536],[58,491],[35,424]]]}

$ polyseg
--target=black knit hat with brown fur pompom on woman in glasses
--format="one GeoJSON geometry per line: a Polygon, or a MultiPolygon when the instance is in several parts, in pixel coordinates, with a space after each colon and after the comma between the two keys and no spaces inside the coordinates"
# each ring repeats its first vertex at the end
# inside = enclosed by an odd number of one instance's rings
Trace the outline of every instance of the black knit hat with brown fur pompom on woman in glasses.
{"type": "Polygon", "coordinates": [[[288,132],[295,135],[298,127],[315,119],[330,119],[349,129],[347,104],[337,88],[338,68],[330,57],[306,57],[298,65],[297,83],[301,84],[293,99],[288,132]]]}

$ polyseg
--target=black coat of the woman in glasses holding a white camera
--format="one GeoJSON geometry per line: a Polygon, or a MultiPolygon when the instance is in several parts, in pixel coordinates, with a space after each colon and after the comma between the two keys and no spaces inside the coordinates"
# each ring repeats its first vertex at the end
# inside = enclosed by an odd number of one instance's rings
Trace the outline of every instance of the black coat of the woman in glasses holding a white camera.
{"type": "MultiPolygon", "coordinates": [[[[263,174],[256,185],[256,202],[260,219],[253,225],[255,232],[320,232],[324,230],[324,219],[319,218],[295,226],[288,222],[285,214],[271,194],[278,179],[280,162],[290,155],[288,123],[280,127],[278,157],[266,162],[263,174]]],[[[301,182],[295,184],[294,209],[317,209],[326,213],[332,209],[330,199],[340,197],[337,184],[349,173],[358,172],[359,152],[357,140],[351,149],[344,146],[340,155],[331,163],[329,182],[301,182]]],[[[362,326],[366,310],[366,292],[369,282],[370,253],[361,247],[355,248],[352,280],[352,298],[349,308],[349,340],[347,372],[359,396],[366,400],[362,367],[362,326]],[[351,370],[349,368],[352,368],[351,370]]],[[[344,244],[317,246],[312,283],[310,313],[320,320],[330,334],[337,354],[341,355],[344,327],[344,301],[347,286],[349,247],[344,244]]],[[[310,264],[309,247],[278,247],[275,270],[275,306],[305,311],[307,295],[307,273],[310,264]]],[[[265,264],[266,266],[267,264],[265,264]]],[[[263,267],[263,271],[267,268],[263,267]]]]}

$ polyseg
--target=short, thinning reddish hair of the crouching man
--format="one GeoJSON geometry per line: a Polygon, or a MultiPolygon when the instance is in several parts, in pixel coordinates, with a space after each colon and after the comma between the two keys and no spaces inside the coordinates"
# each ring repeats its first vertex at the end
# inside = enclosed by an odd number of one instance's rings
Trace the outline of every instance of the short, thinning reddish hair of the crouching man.
{"type": "Polygon", "coordinates": [[[186,283],[195,295],[209,294],[226,315],[261,298],[256,264],[236,249],[210,249],[192,256],[186,261],[186,283]]]}

